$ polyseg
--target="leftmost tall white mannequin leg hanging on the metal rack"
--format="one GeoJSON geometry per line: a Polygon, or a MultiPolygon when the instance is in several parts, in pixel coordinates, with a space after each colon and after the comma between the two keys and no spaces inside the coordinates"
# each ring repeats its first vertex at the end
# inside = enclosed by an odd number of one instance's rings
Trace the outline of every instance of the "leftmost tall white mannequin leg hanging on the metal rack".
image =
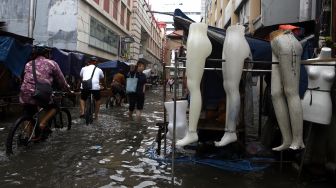
{"type": "Polygon", "coordinates": [[[208,25],[205,23],[192,23],[189,27],[186,62],[187,87],[190,92],[189,128],[187,135],[176,142],[177,146],[185,146],[198,141],[196,130],[202,107],[200,84],[205,59],[212,51],[207,31],[208,25]]]}

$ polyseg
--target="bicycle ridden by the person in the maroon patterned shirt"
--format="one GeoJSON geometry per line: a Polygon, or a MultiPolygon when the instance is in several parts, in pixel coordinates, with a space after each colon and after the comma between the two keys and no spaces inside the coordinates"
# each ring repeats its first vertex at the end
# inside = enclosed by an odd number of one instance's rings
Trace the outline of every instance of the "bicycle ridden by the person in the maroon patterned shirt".
{"type": "MultiPolygon", "coordinates": [[[[46,128],[51,129],[52,125],[54,125],[56,129],[71,129],[70,111],[67,108],[61,107],[61,105],[59,105],[65,95],[66,93],[64,92],[53,92],[53,98],[56,99],[57,96],[60,96],[60,101],[55,102],[55,104],[57,104],[56,114],[48,121],[46,128]]],[[[30,143],[34,142],[34,136],[41,136],[43,137],[42,140],[48,138],[50,133],[43,135],[39,128],[39,119],[43,111],[45,111],[45,109],[40,108],[33,116],[24,114],[15,121],[14,125],[8,133],[6,140],[7,155],[15,154],[18,152],[21,146],[28,146],[30,143]]]]}

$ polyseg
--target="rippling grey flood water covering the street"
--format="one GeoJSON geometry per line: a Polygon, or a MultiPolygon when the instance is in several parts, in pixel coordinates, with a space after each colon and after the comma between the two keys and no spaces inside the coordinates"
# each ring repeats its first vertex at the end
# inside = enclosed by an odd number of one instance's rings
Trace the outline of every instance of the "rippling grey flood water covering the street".
{"type": "MultiPolygon", "coordinates": [[[[141,121],[129,119],[127,107],[106,109],[86,126],[73,112],[70,131],[54,131],[45,142],[32,144],[8,158],[4,141],[13,120],[1,120],[0,187],[172,187],[171,163],[148,155],[163,121],[162,92],[146,94],[141,121]]],[[[333,187],[325,178],[297,181],[290,165],[278,163],[257,172],[232,172],[194,162],[177,162],[175,187],[333,187]]]]}

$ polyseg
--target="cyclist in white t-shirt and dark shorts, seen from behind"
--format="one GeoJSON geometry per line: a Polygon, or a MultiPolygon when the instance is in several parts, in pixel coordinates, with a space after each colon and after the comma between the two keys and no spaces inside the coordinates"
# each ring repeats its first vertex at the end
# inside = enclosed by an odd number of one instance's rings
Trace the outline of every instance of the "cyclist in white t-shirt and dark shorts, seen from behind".
{"type": "Polygon", "coordinates": [[[92,89],[91,90],[84,90],[81,86],[81,99],[80,99],[80,117],[84,117],[84,109],[85,109],[85,101],[89,97],[90,94],[93,94],[93,97],[96,102],[95,106],[95,119],[98,119],[98,113],[100,108],[100,80],[104,78],[103,71],[96,67],[96,64],[98,63],[98,59],[96,57],[91,57],[88,63],[88,66],[83,67],[80,71],[80,76],[82,80],[88,80],[91,78],[91,75],[94,72],[92,76],[92,89]],[[96,69],[94,70],[94,68],[96,69]]]}

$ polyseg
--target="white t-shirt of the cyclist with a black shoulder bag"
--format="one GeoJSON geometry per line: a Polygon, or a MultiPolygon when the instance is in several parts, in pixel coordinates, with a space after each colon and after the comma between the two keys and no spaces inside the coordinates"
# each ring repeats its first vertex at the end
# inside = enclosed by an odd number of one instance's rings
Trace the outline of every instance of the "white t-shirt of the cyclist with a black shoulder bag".
{"type": "MultiPolygon", "coordinates": [[[[80,76],[82,80],[90,79],[94,68],[95,68],[94,65],[83,67],[80,72],[80,76]]],[[[100,90],[99,80],[102,78],[104,78],[104,73],[100,68],[97,67],[92,76],[92,89],[91,90],[100,90]]],[[[81,89],[83,89],[82,84],[81,84],[81,89]]]]}

